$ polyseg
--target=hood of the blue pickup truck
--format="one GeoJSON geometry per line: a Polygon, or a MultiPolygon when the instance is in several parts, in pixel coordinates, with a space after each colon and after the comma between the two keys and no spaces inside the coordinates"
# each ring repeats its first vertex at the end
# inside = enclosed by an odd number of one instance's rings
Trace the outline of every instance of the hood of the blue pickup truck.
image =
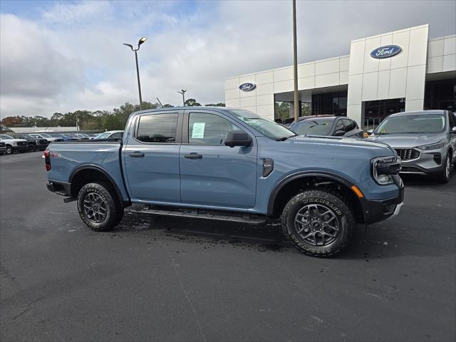
{"type": "Polygon", "coordinates": [[[395,151],[385,142],[382,141],[372,141],[366,139],[356,139],[356,138],[341,138],[341,137],[327,137],[323,135],[297,135],[296,137],[289,138],[286,142],[290,143],[316,143],[323,145],[337,145],[337,146],[346,146],[346,147],[366,147],[369,149],[378,148],[380,150],[388,150],[393,154],[395,151]]]}

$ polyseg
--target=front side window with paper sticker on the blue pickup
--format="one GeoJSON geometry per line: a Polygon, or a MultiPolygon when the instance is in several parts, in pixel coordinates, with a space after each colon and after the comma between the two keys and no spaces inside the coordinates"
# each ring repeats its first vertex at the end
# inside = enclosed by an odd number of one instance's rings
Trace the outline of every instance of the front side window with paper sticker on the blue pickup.
{"type": "Polygon", "coordinates": [[[197,145],[224,145],[227,133],[233,130],[241,129],[219,115],[190,113],[188,142],[197,145]]]}

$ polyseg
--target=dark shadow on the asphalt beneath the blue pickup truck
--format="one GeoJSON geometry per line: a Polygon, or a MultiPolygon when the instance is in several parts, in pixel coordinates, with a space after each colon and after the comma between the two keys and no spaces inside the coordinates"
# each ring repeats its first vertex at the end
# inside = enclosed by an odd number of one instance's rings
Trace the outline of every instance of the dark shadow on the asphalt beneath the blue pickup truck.
{"type": "MultiPolygon", "coordinates": [[[[429,248],[406,235],[398,235],[400,222],[380,222],[369,227],[358,225],[347,249],[336,259],[384,259],[404,255],[437,256],[450,253],[447,248],[429,248]]],[[[180,217],[152,217],[147,214],[126,214],[123,222],[111,233],[135,237],[171,240],[206,247],[216,245],[249,249],[257,252],[287,252],[301,255],[294,245],[284,237],[278,220],[267,224],[251,226],[232,222],[217,222],[205,219],[180,217]]],[[[410,234],[413,234],[411,232],[410,234]]]]}

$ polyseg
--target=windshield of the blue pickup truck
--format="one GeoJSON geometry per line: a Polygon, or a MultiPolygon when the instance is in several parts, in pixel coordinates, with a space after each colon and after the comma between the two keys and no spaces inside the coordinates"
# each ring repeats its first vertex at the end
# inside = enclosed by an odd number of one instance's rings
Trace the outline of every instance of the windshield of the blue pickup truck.
{"type": "Polygon", "coordinates": [[[244,121],[244,123],[247,123],[247,125],[270,139],[286,140],[296,136],[296,134],[291,132],[288,128],[285,128],[278,123],[274,123],[272,120],[252,113],[249,110],[233,109],[230,110],[230,112],[239,120],[244,121]]]}

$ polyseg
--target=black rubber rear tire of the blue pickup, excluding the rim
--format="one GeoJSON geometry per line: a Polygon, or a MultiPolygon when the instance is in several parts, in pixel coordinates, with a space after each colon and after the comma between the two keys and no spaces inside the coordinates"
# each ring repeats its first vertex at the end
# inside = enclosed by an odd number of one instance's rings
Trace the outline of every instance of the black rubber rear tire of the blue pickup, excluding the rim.
{"type": "Polygon", "coordinates": [[[96,232],[105,232],[119,224],[123,217],[123,208],[120,201],[108,182],[92,182],[81,187],[78,193],[78,212],[83,222],[96,232]],[[94,193],[101,197],[106,207],[105,218],[102,222],[94,222],[84,210],[84,199],[94,193]]]}

